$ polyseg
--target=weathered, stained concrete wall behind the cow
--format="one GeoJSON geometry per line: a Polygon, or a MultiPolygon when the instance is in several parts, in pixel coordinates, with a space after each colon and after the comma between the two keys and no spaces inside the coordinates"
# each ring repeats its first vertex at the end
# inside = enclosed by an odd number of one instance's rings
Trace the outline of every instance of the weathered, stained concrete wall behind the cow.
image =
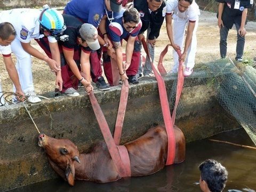
{"type": "MultiPolygon", "coordinates": [[[[239,125],[215,100],[204,74],[186,78],[176,123],[186,141],[209,137],[239,125]],[[181,105],[182,104],[182,105],[181,105]]],[[[174,77],[166,77],[167,92],[174,77]]],[[[120,87],[95,91],[111,131],[114,130],[120,87]]],[[[51,95],[52,93],[49,93],[51,95]]],[[[81,153],[102,140],[89,97],[58,97],[38,104],[26,104],[41,133],[72,140],[81,153]]],[[[154,79],[131,85],[121,143],[138,138],[149,127],[162,123],[157,83],[154,79]]],[[[37,146],[38,133],[20,103],[0,108],[0,191],[57,177],[42,148],[37,146]]]]}

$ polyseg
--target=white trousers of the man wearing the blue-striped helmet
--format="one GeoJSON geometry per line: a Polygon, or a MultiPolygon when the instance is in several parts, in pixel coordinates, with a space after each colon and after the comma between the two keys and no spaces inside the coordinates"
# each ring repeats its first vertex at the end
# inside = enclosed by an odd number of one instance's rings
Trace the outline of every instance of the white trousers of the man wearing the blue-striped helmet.
{"type": "MultiPolygon", "coordinates": [[[[11,44],[12,52],[17,58],[16,69],[19,75],[21,89],[24,93],[27,91],[34,91],[31,55],[23,50],[20,41],[15,38],[11,44]]],[[[16,91],[13,85],[14,92],[16,91]]]]}

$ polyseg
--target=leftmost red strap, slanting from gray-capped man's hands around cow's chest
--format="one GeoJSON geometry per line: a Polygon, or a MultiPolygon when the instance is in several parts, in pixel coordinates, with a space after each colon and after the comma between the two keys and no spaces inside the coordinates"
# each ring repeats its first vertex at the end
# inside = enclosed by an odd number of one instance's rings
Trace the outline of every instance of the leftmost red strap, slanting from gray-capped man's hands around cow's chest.
{"type": "MultiPolygon", "coordinates": [[[[119,152],[118,147],[116,146],[115,141],[114,141],[114,139],[111,135],[111,132],[109,130],[106,118],[105,118],[104,114],[102,113],[100,105],[92,91],[89,94],[89,98],[92,103],[92,108],[93,108],[95,117],[97,118],[101,133],[106,142],[109,154],[116,166],[116,169],[117,169],[119,175],[121,177],[130,176],[131,175],[130,165],[129,165],[129,167],[127,167],[127,166],[125,166],[125,164],[122,161],[122,159],[127,159],[128,153],[126,152],[127,153],[126,157],[121,157],[121,153],[119,152]]],[[[122,154],[125,154],[124,149],[121,149],[121,150],[122,150],[122,154]]],[[[127,151],[127,149],[126,149],[126,151],[127,151]]],[[[129,156],[128,156],[128,159],[129,159],[129,156]]],[[[129,161],[130,161],[130,159],[129,159],[129,161]]],[[[127,163],[126,163],[126,165],[127,165],[127,163]]]]}

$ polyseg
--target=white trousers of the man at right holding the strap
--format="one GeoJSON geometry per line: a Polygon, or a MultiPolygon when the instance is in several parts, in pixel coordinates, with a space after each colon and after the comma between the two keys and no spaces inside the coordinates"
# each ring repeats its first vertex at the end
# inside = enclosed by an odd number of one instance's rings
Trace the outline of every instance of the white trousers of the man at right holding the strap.
{"type": "MultiPolygon", "coordinates": [[[[184,38],[185,38],[185,29],[186,25],[188,24],[189,20],[188,19],[180,19],[178,17],[173,18],[173,41],[175,44],[178,44],[183,50],[183,43],[184,43],[184,38]]],[[[188,52],[187,52],[187,57],[184,62],[186,67],[189,68],[194,68],[195,66],[195,57],[196,57],[196,46],[197,46],[197,40],[196,40],[196,30],[198,27],[198,20],[196,20],[195,23],[195,28],[193,31],[193,36],[192,36],[192,41],[190,46],[188,47],[188,52]]],[[[182,53],[183,51],[181,51],[182,53]]],[[[179,66],[179,55],[175,50],[173,50],[173,61],[174,61],[174,66],[172,68],[173,71],[178,70],[179,66]]]]}

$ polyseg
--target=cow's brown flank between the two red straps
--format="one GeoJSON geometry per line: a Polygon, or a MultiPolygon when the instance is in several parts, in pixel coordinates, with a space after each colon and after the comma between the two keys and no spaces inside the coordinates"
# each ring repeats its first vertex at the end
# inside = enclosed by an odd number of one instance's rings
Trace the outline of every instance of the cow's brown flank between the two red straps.
{"type": "Polygon", "coordinates": [[[165,166],[167,135],[163,126],[148,130],[140,138],[125,144],[131,162],[131,176],[153,174],[165,166]]]}

